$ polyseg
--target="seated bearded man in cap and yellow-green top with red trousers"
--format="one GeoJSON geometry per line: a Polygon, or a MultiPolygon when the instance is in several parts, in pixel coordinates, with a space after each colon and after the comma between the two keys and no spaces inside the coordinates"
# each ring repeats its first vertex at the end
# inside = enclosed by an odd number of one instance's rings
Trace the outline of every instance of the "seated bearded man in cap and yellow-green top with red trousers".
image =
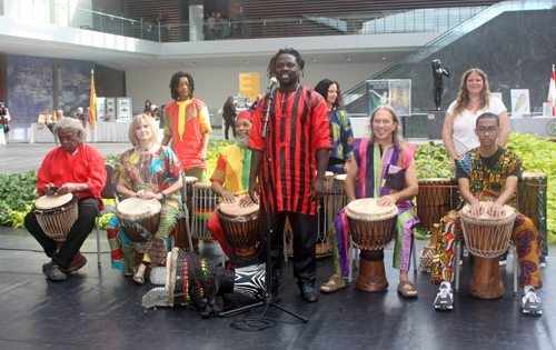
{"type": "MultiPolygon", "coordinates": [[[[224,148],[218,158],[218,163],[210,178],[212,182],[212,191],[221,197],[225,203],[234,203],[236,197],[240,194],[248,194],[249,191],[249,167],[251,164],[251,150],[247,148],[249,143],[249,133],[252,128],[252,112],[246,110],[239,113],[236,120],[236,134],[238,142],[236,144],[224,148]]],[[[252,206],[249,196],[241,198],[240,207],[252,206]]],[[[208,229],[212,237],[218,240],[220,247],[228,258],[230,252],[226,247],[224,239],[222,228],[216,214],[210,217],[208,221],[208,229]]],[[[231,253],[234,253],[234,249],[231,253]]]]}

